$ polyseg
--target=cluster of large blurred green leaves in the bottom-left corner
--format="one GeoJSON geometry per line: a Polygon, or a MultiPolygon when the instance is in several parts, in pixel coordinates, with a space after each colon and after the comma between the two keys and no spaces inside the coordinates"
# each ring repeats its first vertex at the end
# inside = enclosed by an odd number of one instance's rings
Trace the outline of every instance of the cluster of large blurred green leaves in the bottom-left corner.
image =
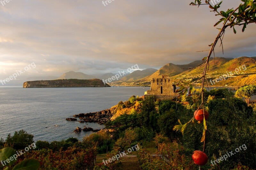
{"type": "MultiPolygon", "coordinates": [[[[37,170],[40,167],[40,163],[38,160],[36,159],[25,159],[23,161],[21,161],[20,163],[16,164],[15,166],[13,166],[16,163],[16,159],[13,159],[13,155],[15,155],[16,152],[13,148],[3,148],[0,150],[0,161],[6,163],[6,168],[5,170],[21,170],[21,169],[29,169],[29,170],[37,170]],[[12,159],[11,159],[12,158],[12,159]],[[6,161],[6,160],[10,160],[10,161],[6,161]],[[9,162],[9,163],[8,163],[9,162]],[[12,167],[12,168],[11,168],[12,167]]],[[[17,154],[16,154],[17,156],[17,154]]],[[[0,165],[1,167],[2,165],[0,165]]]]}

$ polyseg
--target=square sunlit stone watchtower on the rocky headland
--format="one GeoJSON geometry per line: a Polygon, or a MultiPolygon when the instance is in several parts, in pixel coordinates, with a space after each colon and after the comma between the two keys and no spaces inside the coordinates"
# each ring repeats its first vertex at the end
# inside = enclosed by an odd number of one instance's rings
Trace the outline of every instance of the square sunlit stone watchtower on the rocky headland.
{"type": "Polygon", "coordinates": [[[172,80],[168,76],[151,79],[151,88],[145,92],[144,97],[154,96],[155,100],[172,100],[176,97],[176,86],[172,84],[172,80]]]}

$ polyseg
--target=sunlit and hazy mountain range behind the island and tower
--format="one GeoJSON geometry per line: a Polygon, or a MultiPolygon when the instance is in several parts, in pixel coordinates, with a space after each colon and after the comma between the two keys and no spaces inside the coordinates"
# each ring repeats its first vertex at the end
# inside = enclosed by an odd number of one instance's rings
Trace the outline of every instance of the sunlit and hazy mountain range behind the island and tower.
{"type": "MultiPolygon", "coordinates": [[[[132,73],[128,73],[118,80],[114,80],[111,83],[108,83],[111,86],[144,86],[150,85],[151,78],[160,78],[161,75],[169,76],[173,79],[175,83],[185,82],[190,83],[202,76],[204,70],[204,65],[199,66],[204,61],[196,60],[192,63],[176,65],[173,63],[168,63],[161,67],[159,70],[148,68],[145,70],[135,70],[132,73]],[[198,66],[198,67],[197,67],[198,66]],[[196,68],[195,68],[196,67],[196,68]],[[194,69],[193,69],[194,68],[194,69]]],[[[223,58],[215,57],[210,58],[209,70],[207,72],[207,79],[219,78],[227,72],[233,74],[229,75],[226,81],[221,81],[215,85],[229,85],[229,86],[238,86],[245,84],[256,84],[256,57],[238,57],[238,58],[223,58]],[[237,73],[236,69],[241,68],[242,66],[246,67],[246,70],[240,69],[237,73]]],[[[114,73],[106,73],[103,75],[88,75],[82,72],[69,71],[63,73],[59,78],[47,77],[49,80],[52,79],[108,79],[115,76],[114,73]]],[[[35,79],[35,78],[29,78],[35,79]]],[[[41,79],[41,78],[40,78],[41,79]]]]}

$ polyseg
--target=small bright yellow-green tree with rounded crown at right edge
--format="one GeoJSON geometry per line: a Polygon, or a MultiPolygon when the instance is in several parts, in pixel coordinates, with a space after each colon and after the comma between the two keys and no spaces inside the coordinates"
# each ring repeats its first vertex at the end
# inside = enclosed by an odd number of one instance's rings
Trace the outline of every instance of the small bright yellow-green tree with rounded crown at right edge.
{"type": "Polygon", "coordinates": [[[246,85],[236,91],[236,97],[238,98],[244,97],[248,106],[249,106],[249,100],[251,96],[255,94],[256,94],[256,85],[246,85]]]}

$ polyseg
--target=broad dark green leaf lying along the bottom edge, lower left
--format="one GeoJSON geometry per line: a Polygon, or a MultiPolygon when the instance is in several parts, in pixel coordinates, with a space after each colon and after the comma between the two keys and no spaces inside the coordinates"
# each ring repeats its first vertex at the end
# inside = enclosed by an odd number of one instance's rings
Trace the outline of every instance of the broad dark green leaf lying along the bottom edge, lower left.
{"type": "Polygon", "coordinates": [[[37,170],[40,167],[40,163],[36,159],[25,159],[16,166],[13,167],[12,170],[37,170]]]}

